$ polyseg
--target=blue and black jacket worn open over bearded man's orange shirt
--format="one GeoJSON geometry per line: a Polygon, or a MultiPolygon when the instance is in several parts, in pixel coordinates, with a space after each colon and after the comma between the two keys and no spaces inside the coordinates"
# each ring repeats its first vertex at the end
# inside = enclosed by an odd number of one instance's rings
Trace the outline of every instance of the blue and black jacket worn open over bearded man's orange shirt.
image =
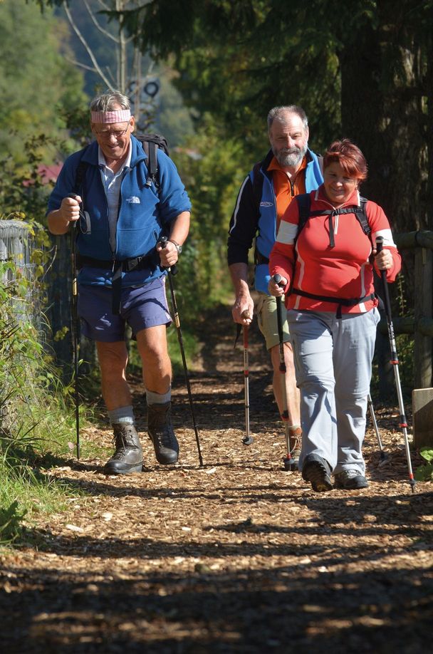
{"type": "MultiPolygon", "coordinates": [[[[306,192],[318,188],[323,182],[318,157],[307,150],[306,192]]],[[[257,291],[268,293],[268,259],[276,240],[276,197],[273,190],[272,171],[268,166],[273,158],[269,150],[265,159],[254,166],[241,185],[234,212],[231,215],[227,261],[231,264],[248,264],[249,249],[256,238],[254,286],[257,291]],[[260,177],[254,179],[254,175],[260,177]],[[259,192],[257,192],[259,189],[259,192]],[[260,199],[259,199],[260,197],[260,199]]]]}

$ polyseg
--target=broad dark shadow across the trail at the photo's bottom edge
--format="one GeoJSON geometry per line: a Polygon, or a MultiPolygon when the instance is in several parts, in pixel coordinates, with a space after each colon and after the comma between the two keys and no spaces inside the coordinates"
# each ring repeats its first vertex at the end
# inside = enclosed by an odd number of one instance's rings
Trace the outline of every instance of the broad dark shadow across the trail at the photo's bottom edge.
{"type": "Polygon", "coordinates": [[[34,570],[21,569],[3,598],[8,611],[2,645],[20,654],[430,650],[433,582],[427,566],[320,570],[318,584],[309,566],[290,563],[272,576],[266,569],[228,564],[212,571],[195,563],[188,573],[130,571],[127,579],[47,568],[39,583],[35,579],[31,590],[20,592],[28,574],[34,578],[34,570]]]}

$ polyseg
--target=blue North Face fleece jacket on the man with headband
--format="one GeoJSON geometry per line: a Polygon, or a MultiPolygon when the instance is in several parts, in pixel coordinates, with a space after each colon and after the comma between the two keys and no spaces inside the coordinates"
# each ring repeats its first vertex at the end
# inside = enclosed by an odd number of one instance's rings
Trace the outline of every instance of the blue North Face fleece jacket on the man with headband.
{"type": "Polygon", "coordinates": [[[66,159],[56,187],[48,200],[48,213],[58,209],[63,197],[74,192],[78,164],[85,162],[83,209],[90,217],[89,224],[80,224],[77,249],[84,264],[78,275],[80,284],[110,286],[112,270],[86,266],[87,259],[125,261],[147,257],[152,265],[122,271],[122,286],[136,286],[165,274],[157,263],[155,246],[163,235],[168,235],[170,224],[182,212],[190,211],[191,203],[172,160],[162,150],[157,152],[160,190],[152,183],[146,186],[147,155],[140,142],[131,137],[130,167],[125,168],[120,187],[120,203],[116,229],[116,250],[110,247],[108,202],[98,164],[98,143],[92,142],[85,150],[66,159]]]}

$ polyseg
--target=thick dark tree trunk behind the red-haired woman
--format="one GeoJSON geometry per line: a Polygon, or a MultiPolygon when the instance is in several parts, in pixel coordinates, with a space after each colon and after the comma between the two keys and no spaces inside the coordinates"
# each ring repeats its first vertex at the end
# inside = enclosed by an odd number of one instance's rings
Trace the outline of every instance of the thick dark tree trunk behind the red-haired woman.
{"type": "Polygon", "coordinates": [[[406,5],[377,1],[377,28],[349,31],[339,57],[343,135],[367,159],[362,193],[383,207],[395,232],[428,228],[420,53],[406,5]]]}

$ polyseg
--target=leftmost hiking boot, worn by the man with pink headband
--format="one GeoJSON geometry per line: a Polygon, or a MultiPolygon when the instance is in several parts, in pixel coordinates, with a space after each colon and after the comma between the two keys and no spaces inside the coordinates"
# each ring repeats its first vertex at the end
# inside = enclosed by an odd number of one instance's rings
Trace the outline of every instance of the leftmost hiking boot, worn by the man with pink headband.
{"type": "Polygon", "coordinates": [[[105,464],[106,474],[127,474],[141,472],[143,467],[143,452],[140,439],[131,422],[113,423],[113,443],[115,453],[105,464]]]}

